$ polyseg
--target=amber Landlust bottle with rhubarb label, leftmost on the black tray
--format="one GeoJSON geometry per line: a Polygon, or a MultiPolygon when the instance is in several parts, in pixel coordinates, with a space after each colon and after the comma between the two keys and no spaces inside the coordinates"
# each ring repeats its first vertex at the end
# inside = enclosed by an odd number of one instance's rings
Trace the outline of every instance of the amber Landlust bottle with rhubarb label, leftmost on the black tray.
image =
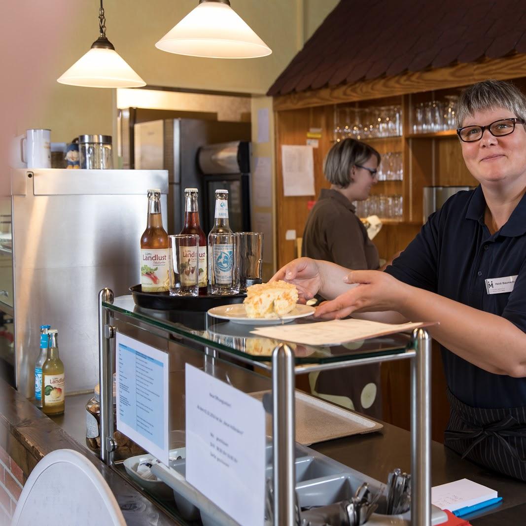
{"type": "Polygon", "coordinates": [[[148,190],[148,220],[140,238],[140,285],[143,292],[164,292],[168,282],[168,234],[163,228],[161,191],[148,190]]]}

